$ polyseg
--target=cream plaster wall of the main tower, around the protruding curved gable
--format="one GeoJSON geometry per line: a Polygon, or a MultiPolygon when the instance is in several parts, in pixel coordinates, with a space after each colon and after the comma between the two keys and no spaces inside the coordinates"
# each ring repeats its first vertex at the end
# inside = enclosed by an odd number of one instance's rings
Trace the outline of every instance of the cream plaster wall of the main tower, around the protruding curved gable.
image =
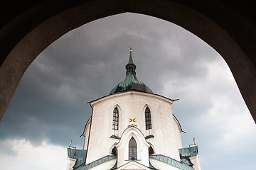
{"type": "Polygon", "coordinates": [[[119,111],[119,130],[117,132],[119,137],[131,124],[128,119],[132,116],[137,118],[135,125],[146,136],[144,111],[146,106],[149,106],[151,109],[151,135],[154,135],[154,138],[147,141],[154,146],[155,154],[163,154],[180,161],[178,154],[180,144],[178,143],[181,143],[181,141],[178,140],[176,135],[171,103],[170,99],[163,96],[136,91],[114,94],[92,101],[92,128],[86,163],[88,164],[110,154],[112,145],[117,142],[117,140],[110,138],[114,133],[112,130],[112,116],[116,106],[119,111]]]}

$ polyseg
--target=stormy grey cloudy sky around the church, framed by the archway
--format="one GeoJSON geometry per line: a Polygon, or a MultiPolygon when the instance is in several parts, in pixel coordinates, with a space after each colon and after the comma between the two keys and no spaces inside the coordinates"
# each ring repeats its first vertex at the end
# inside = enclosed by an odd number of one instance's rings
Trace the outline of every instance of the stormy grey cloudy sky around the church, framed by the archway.
{"type": "Polygon", "coordinates": [[[38,55],[0,122],[1,169],[65,169],[70,139],[82,149],[87,102],[124,80],[130,45],[139,81],[180,99],[183,147],[196,137],[201,169],[256,169],[256,126],[223,58],[187,30],[135,13],[87,23],[38,55]]]}

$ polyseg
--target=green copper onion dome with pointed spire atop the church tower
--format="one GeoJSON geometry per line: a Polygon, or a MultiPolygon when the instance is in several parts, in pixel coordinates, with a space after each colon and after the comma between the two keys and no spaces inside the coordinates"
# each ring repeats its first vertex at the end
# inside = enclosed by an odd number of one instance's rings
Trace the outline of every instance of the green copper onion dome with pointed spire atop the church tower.
{"type": "Polygon", "coordinates": [[[138,81],[136,77],[136,65],[132,60],[132,48],[130,48],[129,62],[125,68],[127,69],[127,72],[124,81],[117,84],[117,86],[115,86],[114,89],[110,91],[110,94],[117,94],[123,91],[143,91],[153,94],[151,89],[149,89],[149,87],[146,86],[142,81],[138,81]]]}

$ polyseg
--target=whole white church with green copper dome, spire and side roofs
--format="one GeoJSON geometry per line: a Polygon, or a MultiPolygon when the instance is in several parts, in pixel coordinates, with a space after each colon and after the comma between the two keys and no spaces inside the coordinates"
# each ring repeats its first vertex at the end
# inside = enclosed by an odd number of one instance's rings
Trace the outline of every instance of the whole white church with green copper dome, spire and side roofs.
{"type": "Polygon", "coordinates": [[[183,148],[173,99],[154,94],[136,77],[129,50],[124,81],[90,102],[83,149],[68,148],[68,170],[201,170],[195,141],[183,148]]]}

